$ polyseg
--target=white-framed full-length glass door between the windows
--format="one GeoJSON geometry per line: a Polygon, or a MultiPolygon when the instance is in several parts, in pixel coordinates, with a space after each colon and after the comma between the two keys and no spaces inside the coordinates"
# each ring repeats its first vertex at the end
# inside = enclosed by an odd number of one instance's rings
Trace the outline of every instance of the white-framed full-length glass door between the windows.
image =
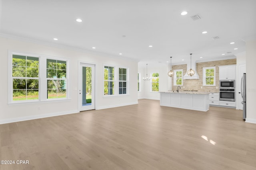
{"type": "Polygon", "coordinates": [[[78,108],[79,111],[95,109],[95,65],[79,63],[78,108]]]}

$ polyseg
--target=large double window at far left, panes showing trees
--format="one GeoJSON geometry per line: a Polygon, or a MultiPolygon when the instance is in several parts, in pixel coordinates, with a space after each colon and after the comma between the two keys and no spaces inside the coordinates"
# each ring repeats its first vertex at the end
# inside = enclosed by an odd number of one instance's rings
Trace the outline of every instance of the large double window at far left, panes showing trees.
{"type": "Polygon", "coordinates": [[[66,99],[67,62],[56,57],[9,53],[8,102],[66,99]]]}

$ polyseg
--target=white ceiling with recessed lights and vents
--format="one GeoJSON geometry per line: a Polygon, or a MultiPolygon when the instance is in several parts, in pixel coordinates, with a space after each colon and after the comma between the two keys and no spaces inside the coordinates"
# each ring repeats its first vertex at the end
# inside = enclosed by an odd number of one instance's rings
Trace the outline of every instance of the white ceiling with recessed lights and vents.
{"type": "Polygon", "coordinates": [[[170,56],[173,64],[182,63],[190,61],[190,53],[198,61],[226,59],[256,37],[256,0],[0,0],[0,5],[2,35],[142,63],[166,63],[170,56]],[[188,14],[180,15],[183,11],[188,14]],[[196,14],[201,19],[194,21],[196,14]]]}

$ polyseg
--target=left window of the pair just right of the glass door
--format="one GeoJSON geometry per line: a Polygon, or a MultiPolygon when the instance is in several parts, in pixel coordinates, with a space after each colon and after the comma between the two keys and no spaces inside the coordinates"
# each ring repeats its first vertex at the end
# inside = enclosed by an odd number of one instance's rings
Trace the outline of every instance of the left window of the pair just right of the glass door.
{"type": "Polygon", "coordinates": [[[114,67],[104,66],[104,95],[114,95],[114,67]]]}

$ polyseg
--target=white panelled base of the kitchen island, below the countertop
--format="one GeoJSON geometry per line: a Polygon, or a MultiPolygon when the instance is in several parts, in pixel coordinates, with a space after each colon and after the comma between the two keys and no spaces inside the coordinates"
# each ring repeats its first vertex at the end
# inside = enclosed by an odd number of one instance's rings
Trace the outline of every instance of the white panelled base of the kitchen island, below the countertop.
{"type": "Polygon", "coordinates": [[[207,111],[209,110],[209,93],[160,92],[160,106],[207,111]]]}

